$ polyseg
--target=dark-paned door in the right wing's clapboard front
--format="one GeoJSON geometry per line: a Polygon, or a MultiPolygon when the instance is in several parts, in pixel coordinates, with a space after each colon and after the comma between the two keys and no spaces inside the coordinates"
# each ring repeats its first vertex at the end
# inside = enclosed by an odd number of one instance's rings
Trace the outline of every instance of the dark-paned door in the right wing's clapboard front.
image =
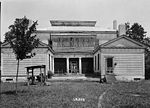
{"type": "Polygon", "coordinates": [[[113,57],[106,58],[106,73],[113,73],[113,57]]]}

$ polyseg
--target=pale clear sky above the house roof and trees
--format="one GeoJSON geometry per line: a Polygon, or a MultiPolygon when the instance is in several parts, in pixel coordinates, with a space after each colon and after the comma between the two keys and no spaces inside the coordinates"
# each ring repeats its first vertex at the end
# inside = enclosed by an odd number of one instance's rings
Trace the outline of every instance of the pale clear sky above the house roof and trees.
{"type": "Polygon", "coordinates": [[[1,40],[16,18],[38,20],[37,28],[50,20],[92,20],[102,28],[139,23],[150,37],[150,0],[1,0],[1,40]]]}

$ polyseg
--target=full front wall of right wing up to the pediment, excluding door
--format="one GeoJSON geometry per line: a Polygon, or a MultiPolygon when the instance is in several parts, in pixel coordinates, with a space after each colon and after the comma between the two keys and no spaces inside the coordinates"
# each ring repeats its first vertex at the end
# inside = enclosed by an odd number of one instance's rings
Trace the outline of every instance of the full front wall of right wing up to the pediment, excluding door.
{"type": "Polygon", "coordinates": [[[102,49],[101,50],[101,72],[106,74],[107,57],[113,57],[114,74],[120,79],[144,78],[144,49],[102,49]]]}

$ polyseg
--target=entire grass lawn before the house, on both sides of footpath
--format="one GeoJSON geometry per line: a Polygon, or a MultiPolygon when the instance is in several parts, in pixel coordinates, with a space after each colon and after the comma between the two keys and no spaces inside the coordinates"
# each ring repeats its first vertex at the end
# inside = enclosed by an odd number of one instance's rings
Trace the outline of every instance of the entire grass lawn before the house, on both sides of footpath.
{"type": "Polygon", "coordinates": [[[0,108],[150,108],[150,81],[100,84],[90,81],[54,81],[50,86],[2,83],[0,108]]]}

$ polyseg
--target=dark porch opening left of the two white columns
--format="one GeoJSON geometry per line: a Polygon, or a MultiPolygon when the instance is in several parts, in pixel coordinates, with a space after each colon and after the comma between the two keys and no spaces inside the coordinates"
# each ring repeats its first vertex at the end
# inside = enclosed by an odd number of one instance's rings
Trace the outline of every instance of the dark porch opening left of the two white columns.
{"type": "Polygon", "coordinates": [[[66,73],[66,58],[54,58],[54,73],[64,74],[66,73]]]}

